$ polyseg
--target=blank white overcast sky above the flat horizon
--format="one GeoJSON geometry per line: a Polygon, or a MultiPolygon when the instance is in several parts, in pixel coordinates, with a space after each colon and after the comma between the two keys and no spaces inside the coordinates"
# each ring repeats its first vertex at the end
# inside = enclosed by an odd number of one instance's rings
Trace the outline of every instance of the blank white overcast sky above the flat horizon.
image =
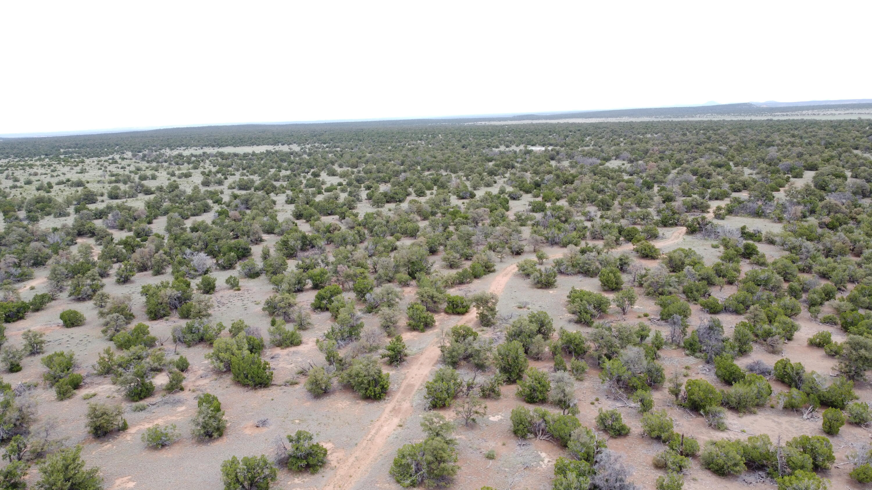
{"type": "Polygon", "coordinates": [[[0,134],[872,98],[869,1],[9,2],[0,134]]]}

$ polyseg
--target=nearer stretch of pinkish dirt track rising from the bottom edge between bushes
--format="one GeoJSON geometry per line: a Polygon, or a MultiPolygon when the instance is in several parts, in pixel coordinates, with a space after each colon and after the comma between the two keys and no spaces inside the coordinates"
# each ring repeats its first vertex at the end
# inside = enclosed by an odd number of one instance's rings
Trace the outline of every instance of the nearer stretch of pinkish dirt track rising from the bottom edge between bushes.
{"type": "MultiPolygon", "coordinates": [[[[503,289],[506,289],[508,280],[517,269],[518,267],[514,264],[502,269],[500,274],[494,277],[488,291],[497,296],[501,295],[503,289]]],[[[474,319],[475,310],[469,310],[466,315],[460,317],[458,324],[472,323],[474,319]]],[[[385,446],[388,437],[391,436],[400,422],[412,415],[414,411],[412,397],[415,391],[418,391],[424,384],[430,371],[433,370],[433,366],[439,361],[440,353],[439,345],[435,339],[421,351],[412,367],[406,372],[403,382],[399,385],[399,389],[394,392],[393,398],[385,407],[385,411],[372,425],[370,432],[358,443],[358,446],[354,446],[351,453],[339,463],[337,472],[324,486],[324,490],[347,490],[354,487],[358,480],[369,472],[372,461],[380,455],[380,450],[382,446],[385,446]]]]}

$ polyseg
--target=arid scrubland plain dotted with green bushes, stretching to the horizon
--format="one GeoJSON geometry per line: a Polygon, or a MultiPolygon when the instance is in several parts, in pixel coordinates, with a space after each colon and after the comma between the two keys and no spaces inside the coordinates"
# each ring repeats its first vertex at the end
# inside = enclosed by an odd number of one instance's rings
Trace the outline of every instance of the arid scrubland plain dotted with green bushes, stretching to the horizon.
{"type": "Polygon", "coordinates": [[[0,488],[865,487],[872,129],[802,111],[0,140],[0,488]]]}

